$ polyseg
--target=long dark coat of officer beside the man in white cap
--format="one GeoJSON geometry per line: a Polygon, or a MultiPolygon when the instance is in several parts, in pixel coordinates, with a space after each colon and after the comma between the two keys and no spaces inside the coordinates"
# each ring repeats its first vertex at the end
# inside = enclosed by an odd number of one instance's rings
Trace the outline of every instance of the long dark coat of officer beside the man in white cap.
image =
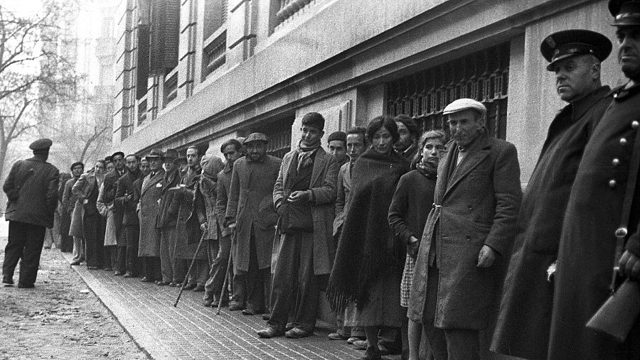
{"type": "Polygon", "coordinates": [[[599,87],[555,116],[524,192],[492,349],[526,359],[547,356],[553,282],[567,201],[587,141],[611,103],[599,87]]]}

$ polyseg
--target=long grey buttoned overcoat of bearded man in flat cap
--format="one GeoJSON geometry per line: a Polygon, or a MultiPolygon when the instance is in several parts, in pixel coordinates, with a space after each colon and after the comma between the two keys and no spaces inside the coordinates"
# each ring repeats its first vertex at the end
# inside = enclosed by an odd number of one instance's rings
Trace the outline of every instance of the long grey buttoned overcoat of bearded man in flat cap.
{"type": "Polygon", "coordinates": [[[273,186],[281,160],[265,155],[262,161],[235,160],[228,193],[226,218],[235,219],[232,245],[234,272],[249,271],[250,241],[255,241],[257,265],[270,268],[277,213],[273,208],[273,186]],[[252,240],[253,233],[253,240],[252,240]]]}

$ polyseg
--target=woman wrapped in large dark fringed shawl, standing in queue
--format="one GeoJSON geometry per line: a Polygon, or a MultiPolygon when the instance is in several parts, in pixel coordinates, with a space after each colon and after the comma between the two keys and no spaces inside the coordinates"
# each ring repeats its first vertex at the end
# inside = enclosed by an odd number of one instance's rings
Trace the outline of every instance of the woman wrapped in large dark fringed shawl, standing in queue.
{"type": "Polygon", "coordinates": [[[393,151],[399,135],[392,118],[371,120],[366,135],[372,146],[353,167],[351,207],[327,297],[338,314],[347,308],[346,326],[365,327],[368,347],[363,359],[380,359],[378,329],[402,325],[400,280],[406,246],[396,240],[387,217],[395,187],[409,163],[393,151]]]}

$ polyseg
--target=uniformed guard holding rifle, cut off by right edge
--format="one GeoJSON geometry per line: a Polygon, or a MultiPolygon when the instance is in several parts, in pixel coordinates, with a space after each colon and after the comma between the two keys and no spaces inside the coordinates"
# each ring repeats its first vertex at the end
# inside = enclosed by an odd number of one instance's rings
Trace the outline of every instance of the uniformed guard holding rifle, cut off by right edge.
{"type": "MultiPolygon", "coordinates": [[[[573,182],[555,273],[549,359],[640,357],[639,319],[624,343],[585,327],[609,297],[614,263],[623,276],[637,280],[640,272],[640,182],[631,208],[623,209],[631,154],[640,146],[640,1],[609,1],[609,11],[629,82],[613,90],[613,102],[587,143],[573,182]],[[629,216],[626,224],[620,223],[623,211],[629,216]],[[619,260],[617,234],[626,238],[619,260]]],[[[629,316],[621,310],[620,317],[629,316]]]]}

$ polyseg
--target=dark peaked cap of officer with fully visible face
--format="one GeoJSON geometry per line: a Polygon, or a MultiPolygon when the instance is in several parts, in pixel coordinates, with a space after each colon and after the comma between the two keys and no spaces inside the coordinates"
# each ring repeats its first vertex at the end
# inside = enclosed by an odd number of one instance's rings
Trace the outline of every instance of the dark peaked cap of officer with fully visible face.
{"type": "Polygon", "coordinates": [[[603,61],[609,56],[612,43],[607,36],[590,30],[565,30],[547,36],[540,44],[540,53],[549,62],[547,70],[553,71],[558,60],[577,55],[594,55],[603,61]]]}

